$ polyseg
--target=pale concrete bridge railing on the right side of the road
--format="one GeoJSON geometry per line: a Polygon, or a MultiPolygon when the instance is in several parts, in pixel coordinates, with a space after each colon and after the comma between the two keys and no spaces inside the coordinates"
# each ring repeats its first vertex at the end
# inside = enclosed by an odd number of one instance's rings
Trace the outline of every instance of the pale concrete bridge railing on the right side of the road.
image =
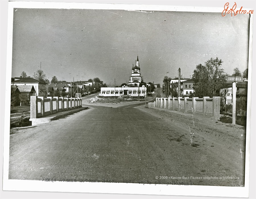
{"type": "Polygon", "coordinates": [[[151,107],[210,115],[214,116],[216,120],[220,119],[220,97],[157,97],[155,102],[148,102],[148,108],[151,107]]]}

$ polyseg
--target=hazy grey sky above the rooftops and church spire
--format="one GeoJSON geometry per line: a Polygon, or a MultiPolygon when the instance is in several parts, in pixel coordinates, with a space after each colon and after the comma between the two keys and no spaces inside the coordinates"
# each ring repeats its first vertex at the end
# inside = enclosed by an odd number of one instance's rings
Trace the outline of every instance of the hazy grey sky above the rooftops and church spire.
{"type": "Polygon", "coordinates": [[[229,75],[248,67],[249,15],[220,12],[26,9],[13,13],[12,77],[43,70],[51,81],[129,82],[137,56],[144,82],[192,78],[218,57],[229,75]]]}

